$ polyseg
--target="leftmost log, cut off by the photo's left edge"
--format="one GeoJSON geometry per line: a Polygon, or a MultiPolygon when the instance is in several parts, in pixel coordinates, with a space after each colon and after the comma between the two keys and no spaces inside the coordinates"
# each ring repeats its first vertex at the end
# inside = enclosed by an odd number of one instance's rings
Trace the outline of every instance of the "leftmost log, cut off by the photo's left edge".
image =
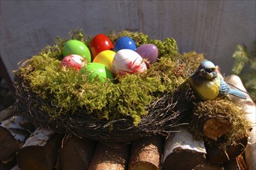
{"type": "Polygon", "coordinates": [[[0,124],[0,161],[15,155],[26,138],[29,137],[29,131],[32,131],[32,128],[28,128],[29,126],[24,128],[23,124],[30,123],[20,116],[10,117],[0,124]]]}

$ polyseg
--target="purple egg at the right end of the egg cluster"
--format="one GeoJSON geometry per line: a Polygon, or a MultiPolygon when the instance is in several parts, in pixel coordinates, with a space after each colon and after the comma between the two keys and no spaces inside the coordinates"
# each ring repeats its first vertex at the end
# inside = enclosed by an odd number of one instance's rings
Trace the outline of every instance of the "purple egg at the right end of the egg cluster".
{"type": "MultiPolygon", "coordinates": [[[[150,64],[155,63],[159,56],[159,49],[154,44],[143,44],[135,52],[142,56],[143,59],[147,59],[150,64]]],[[[148,63],[147,67],[149,67],[148,63]]]]}

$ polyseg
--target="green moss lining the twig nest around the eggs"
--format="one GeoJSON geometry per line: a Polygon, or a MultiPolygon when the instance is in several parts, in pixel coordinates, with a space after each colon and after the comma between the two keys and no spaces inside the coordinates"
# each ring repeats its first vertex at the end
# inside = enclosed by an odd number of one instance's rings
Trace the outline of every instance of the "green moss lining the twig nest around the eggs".
{"type": "MultiPolygon", "coordinates": [[[[87,74],[75,70],[60,70],[63,45],[68,39],[56,38],[53,46],[28,59],[16,75],[28,84],[28,90],[41,97],[44,110],[50,118],[76,114],[86,110],[99,120],[113,121],[121,117],[132,117],[134,124],[148,113],[147,107],[163,93],[176,90],[186,76],[196,70],[200,60],[189,59],[200,56],[179,54],[176,41],[149,39],[142,32],[109,33],[113,43],[121,36],[134,39],[137,46],[154,43],[159,48],[159,62],[152,64],[146,73],[127,75],[119,83],[95,79],[89,81],[87,74]]],[[[80,30],[70,32],[70,39],[78,39],[89,45],[90,36],[80,30]]],[[[200,58],[202,58],[200,56],[200,58]]]]}

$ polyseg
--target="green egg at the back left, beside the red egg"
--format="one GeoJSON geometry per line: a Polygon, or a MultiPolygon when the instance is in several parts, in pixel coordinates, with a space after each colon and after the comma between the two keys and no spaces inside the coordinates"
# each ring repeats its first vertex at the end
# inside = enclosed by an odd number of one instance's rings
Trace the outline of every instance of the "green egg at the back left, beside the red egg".
{"type": "Polygon", "coordinates": [[[70,39],[63,46],[63,56],[68,56],[70,54],[83,56],[89,63],[91,61],[90,50],[84,42],[78,41],[77,39],[70,39]]]}

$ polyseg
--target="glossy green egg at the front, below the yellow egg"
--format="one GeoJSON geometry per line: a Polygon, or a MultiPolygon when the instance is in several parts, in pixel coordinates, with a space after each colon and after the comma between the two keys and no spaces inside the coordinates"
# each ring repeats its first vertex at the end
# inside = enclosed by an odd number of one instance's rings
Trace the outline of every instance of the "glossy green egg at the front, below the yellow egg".
{"type": "Polygon", "coordinates": [[[113,73],[104,66],[102,63],[88,63],[86,66],[87,73],[89,75],[89,80],[94,80],[97,76],[101,79],[102,82],[105,82],[106,79],[114,80],[113,73]]]}

